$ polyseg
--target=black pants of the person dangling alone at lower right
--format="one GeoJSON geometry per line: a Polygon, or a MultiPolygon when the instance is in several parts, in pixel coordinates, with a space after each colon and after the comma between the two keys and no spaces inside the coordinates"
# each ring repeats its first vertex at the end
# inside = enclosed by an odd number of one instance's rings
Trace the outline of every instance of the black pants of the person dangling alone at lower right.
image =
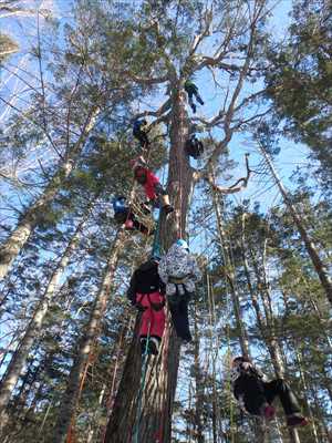
{"type": "Polygon", "coordinates": [[[271,404],[276,396],[279,396],[286,415],[300,412],[298,399],[282,379],[263,382],[256,377],[241,375],[237,384],[240,384],[236,388],[237,396],[243,395],[245,408],[250,414],[259,415],[262,404],[271,404]]]}

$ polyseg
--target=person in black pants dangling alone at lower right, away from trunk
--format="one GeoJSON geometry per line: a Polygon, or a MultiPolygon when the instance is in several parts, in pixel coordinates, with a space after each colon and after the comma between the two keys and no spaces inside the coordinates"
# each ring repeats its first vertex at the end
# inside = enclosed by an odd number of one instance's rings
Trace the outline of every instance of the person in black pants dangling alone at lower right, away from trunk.
{"type": "Polygon", "coordinates": [[[308,424],[308,420],[301,414],[294,393],[284,380],[264,381],[264,374],[243,356],[236,357],[231,365],[234,395],[243,411],[271,420],[276,414],[271,403],[276,396],[279,396],[288,426],[308,424]]]}

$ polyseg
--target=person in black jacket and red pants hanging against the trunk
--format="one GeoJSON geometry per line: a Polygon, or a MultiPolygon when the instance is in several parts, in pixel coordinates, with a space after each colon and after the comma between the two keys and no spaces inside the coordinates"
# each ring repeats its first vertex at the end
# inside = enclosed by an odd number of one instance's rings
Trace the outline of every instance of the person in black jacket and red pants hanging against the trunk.
{"type": "Polygon", "coordinates": [[[142,353],[157,354],[165,329],[165,285],[158,275],[158,257],[152,257],[133,274],[127,297],[142,311],[142,353]]]}

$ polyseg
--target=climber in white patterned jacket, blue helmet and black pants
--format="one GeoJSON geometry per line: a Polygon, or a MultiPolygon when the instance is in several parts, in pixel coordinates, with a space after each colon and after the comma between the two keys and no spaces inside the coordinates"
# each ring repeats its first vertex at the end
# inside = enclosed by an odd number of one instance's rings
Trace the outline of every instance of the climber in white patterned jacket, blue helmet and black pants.
{"type": "Polygon", "coordinates": [[[187,241],[178,239],[162,258],[158,272],[166,285],[172,320],[176,333],[191,341],[188,302],[195,292],[195,282],[201,278],[196,259],[189,254],[187,241]]]}

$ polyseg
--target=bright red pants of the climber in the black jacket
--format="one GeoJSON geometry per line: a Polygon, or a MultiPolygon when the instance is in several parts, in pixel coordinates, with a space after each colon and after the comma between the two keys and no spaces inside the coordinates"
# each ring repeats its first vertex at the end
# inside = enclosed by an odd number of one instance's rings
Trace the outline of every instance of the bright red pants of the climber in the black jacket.
{"type": "Polygon", "coordinates": [[[156,310],[152,303],[163,303],[160,292],[136,293],[136,302],[146,308],[142,315],[139,337],[156,337],[162,339],[165,329],[165,307],[156,310]]]}

